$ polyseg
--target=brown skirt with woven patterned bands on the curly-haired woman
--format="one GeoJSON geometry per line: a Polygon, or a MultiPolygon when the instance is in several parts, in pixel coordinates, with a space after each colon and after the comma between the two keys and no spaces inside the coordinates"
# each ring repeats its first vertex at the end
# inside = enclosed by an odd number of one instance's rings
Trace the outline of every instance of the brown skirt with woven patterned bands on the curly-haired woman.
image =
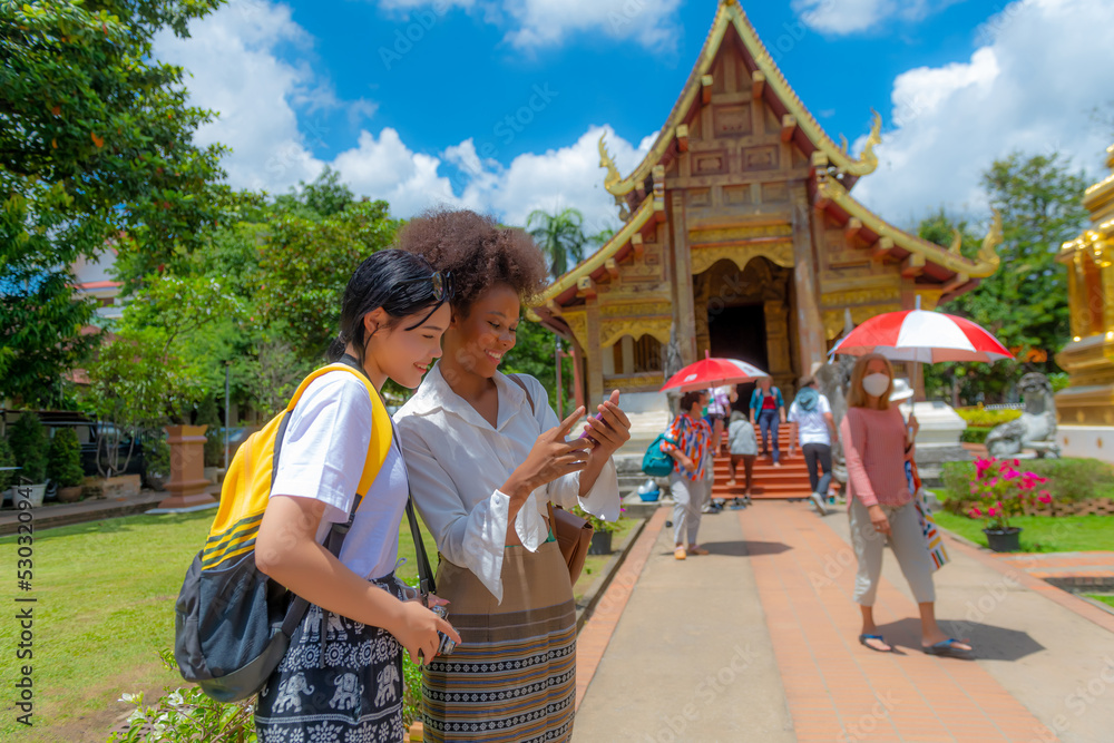
{"type": "Polygon", "coordinates": [[[437,594],[460,644],[422,671],[427,741],[569,741],[576,701],[576,605],[557,542],[508,547],[502,604],[441,559],[437,594]]]}

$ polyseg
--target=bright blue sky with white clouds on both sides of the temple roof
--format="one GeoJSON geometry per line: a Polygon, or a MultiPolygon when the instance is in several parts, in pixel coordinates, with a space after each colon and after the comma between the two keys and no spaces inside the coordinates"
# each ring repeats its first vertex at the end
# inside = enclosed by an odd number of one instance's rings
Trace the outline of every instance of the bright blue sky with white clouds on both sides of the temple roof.
{"type": "MultiPolygon", "coordinates": [[[[571,205],[616,222],[619,168],[652,144],[712,23],[711,0],[234,0],[162,37],[222,111],[201,141],[234,148],[240,187],[284,190],[326,164],[399,216],[448,203],[520,223],[571,205]],[[512,129],[508,115],[528,109],[512,129]]],[[[909,225],[939,206],[985,215],[978,175],[1013,150],[1063,151],[1097,176],[1114,126],[1114,3],[1104,0],[744,1],[813,115],[861,141],[885,120],[856,193],[909,225]],[[783,50],[783,51],[782,51],[783,50]],[[1110,111],[1111,109],[1107,109],[1110,111]]]]}

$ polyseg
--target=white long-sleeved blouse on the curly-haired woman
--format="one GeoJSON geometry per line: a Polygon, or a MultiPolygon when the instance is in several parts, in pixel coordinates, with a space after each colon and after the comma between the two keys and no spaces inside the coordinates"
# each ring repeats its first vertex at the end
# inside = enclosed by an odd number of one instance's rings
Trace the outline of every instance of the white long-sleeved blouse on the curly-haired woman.
{"type": "MultiPolygon", "coordinates": [[[[467,567],[502,603],[502,554],[507,544],[510,497],[499,488],[534,448],[538,436],[560,421],[541,383],[518,374],[534,400],[500,372],[492,378],[499,394],[498,426],[491,428],[475,408],[452,391],[436,364],[412,397],[394,414],[402,454],[410,473],[414,505],[437,548],[455,565],[467,567]]],[[[548,538],[547,504],[584,510],[605,521],[619,517],[618,479],[608,460],[583,498],[580,473],[573,472],[530,493],[515,517],[515,531],[531,553],[548,538]]]]}

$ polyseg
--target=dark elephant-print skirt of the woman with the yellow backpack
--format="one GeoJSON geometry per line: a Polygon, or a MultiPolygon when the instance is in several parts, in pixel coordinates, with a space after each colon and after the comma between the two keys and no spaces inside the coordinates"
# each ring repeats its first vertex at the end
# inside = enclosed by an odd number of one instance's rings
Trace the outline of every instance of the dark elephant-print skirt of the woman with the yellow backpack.
{"type": "MultiPolygon", "coordinates": [[[[398,598],[391,573],[371,581],[398,598]]],[[[380,627],[311,605],[260,693],[260,743],[401,741],[402,646],[380,627]]]]}

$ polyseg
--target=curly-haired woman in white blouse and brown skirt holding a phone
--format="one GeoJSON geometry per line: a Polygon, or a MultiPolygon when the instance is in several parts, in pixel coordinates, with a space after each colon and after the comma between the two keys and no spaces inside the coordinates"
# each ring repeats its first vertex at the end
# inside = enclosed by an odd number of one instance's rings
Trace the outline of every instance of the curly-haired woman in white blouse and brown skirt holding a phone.
{"type": "Polygon", "coordinates": [[[401,248],[451,272],[444,354],[395,414],[414,504],[437,539],[438,595],[461,643],[426,665],[429,741],[567,741],[576,696],[576,606],[547,505],[618,518],[612,454],[629,438],[617,393],[566,442],[532,377],[499,372],[522,300],[546,282],[524,232],[472,212],[433,212],[401,248]]]}

